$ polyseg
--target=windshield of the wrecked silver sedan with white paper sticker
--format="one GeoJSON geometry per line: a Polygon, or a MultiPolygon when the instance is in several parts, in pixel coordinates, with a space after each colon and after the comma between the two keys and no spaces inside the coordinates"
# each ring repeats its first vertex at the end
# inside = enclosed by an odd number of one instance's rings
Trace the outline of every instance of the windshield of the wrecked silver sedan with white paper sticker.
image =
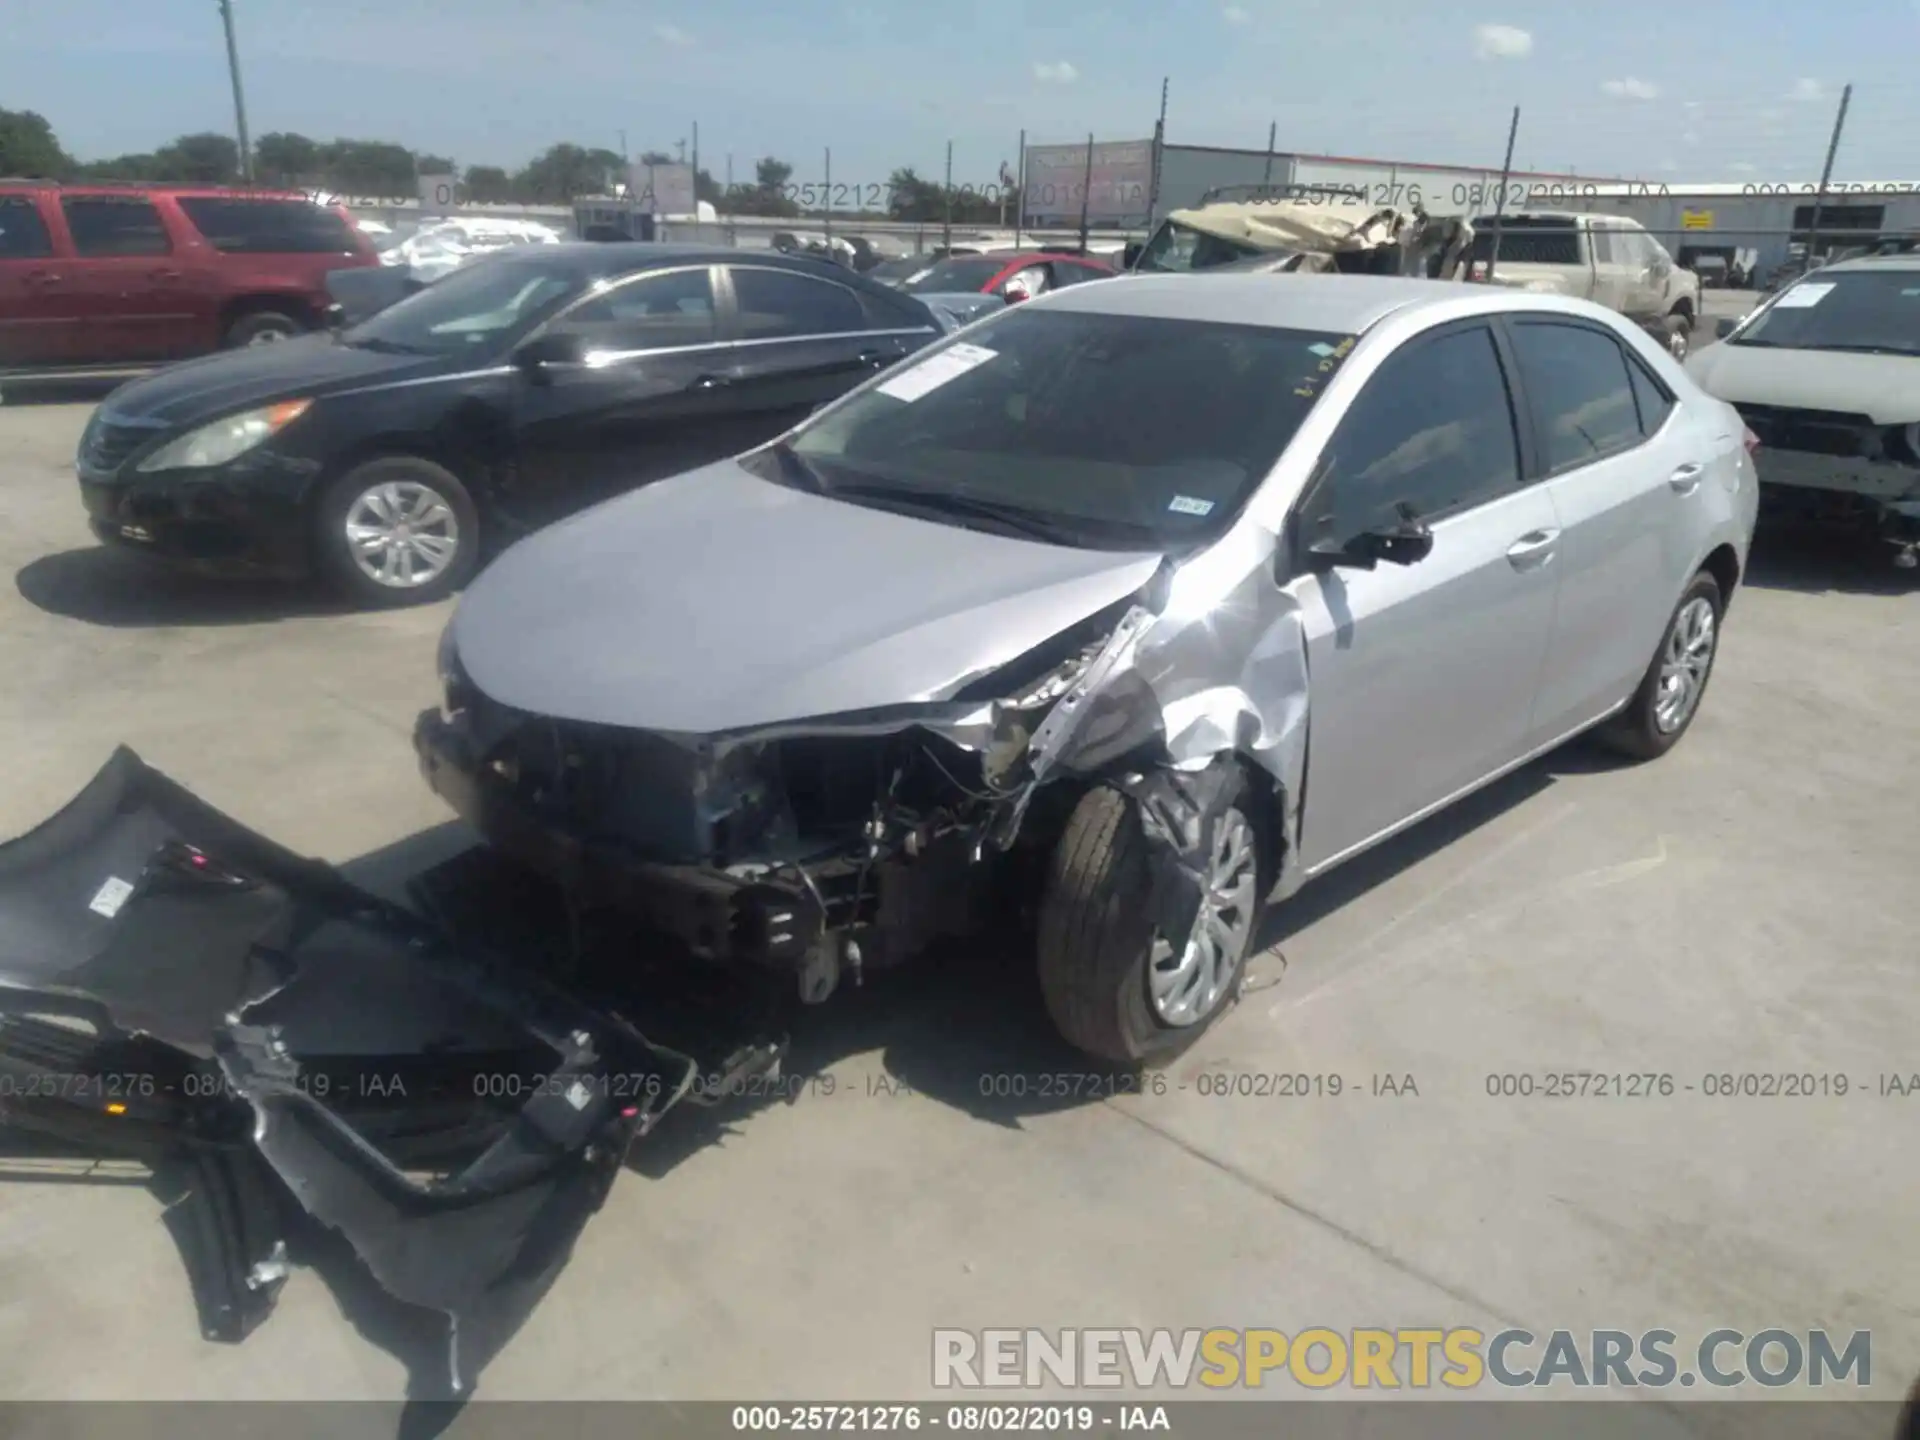
{"type": "Polygon", "coordinates": [[[952,522],[1021,516],[1056,543],[1177,549],[1233,520],[1352,346],[1014,309],[822,413],[755,472],[797,484],[799,468],[826,493],[952,522]]]}

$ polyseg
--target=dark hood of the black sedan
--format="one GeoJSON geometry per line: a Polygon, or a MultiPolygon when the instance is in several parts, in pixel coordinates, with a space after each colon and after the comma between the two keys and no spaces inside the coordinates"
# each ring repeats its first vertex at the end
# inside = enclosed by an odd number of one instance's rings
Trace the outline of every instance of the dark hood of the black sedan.
{"type": "Polygon", "coordinates": [[[330,334],[307,334],[169,365],[115,390],[106,409],[131,420],[194,424],[276,399],[411,380],[449,367],[442,355],[388,355],[342,346],[330,334]]]}

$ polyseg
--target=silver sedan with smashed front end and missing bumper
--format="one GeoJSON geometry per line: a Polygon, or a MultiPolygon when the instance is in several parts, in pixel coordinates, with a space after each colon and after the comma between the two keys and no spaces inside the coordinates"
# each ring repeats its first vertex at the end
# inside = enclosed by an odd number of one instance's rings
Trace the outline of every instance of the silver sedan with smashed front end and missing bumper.
{"type": "Polygon", "coordinates": [[[1165,1058],[1269,899],[1590,728],[1688,732],[1743,438],[1582,301],[1073,286],[507,551],[415,741],[685,964],[824,1000],[1023,914],[1068,1041],[1165,1058]]]}

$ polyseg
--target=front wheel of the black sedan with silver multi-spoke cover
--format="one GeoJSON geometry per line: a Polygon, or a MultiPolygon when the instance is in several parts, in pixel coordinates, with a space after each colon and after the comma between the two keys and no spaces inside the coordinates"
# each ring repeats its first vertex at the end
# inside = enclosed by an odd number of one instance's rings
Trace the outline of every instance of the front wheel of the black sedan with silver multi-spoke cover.
{"type": "Polygon", "coordinates": [[[319,561],[363,605],[424,605],[480,563],[480,515],[451,470],[411,455],[357,465],[319,507],[319,561]]]}

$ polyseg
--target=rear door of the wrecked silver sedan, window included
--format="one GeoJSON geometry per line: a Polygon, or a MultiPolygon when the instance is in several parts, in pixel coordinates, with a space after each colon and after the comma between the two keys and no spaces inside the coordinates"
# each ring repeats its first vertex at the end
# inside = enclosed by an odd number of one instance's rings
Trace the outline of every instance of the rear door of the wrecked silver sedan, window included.
{"type": "MultiPolygon", "coordinates": [[[[1534,707],[1544,745],[1632,693],[1692,576],[1713,436],[1609,326],[1574,317],[1507,321],[1540,488],[1561,528],[1559,607],[1534,707]]],[[[1732,436],[1724,438],[1732,444],[1732,436]]]]}

